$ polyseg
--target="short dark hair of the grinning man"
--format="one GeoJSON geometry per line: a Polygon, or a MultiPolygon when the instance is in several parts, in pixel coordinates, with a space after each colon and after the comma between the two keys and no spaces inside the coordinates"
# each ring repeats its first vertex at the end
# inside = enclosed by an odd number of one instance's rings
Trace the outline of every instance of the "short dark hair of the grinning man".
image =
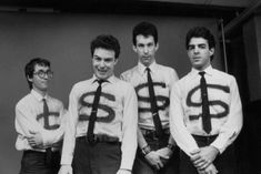
{"type": "Polygon", "coordinates": [[[106,50],[112,50],[116,52],[116,59],[120,55],[120,43],[117,38],[110,34],[98,35],[91,41],[91,55],[93,57],[94,50],[101,48],[106,50]]]}

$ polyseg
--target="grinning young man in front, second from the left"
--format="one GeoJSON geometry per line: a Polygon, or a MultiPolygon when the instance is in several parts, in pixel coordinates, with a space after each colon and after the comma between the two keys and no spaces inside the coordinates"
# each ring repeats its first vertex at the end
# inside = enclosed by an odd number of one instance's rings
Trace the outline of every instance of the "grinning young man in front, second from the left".
{"type": "Polygon", "coordinates": [[[138,102],[131,84],[114,76],[119,54],[112,35],[91,42],[94,74],[71,90],[59,174],[131,174],[138,102]]]}

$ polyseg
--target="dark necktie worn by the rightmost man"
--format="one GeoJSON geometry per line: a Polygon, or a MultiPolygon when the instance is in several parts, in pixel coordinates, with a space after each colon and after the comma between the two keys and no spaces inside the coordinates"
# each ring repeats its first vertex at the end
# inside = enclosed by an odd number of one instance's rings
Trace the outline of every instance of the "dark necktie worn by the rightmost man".
{"type": "Polygon", "coordinates": [[[201,90],[201,100],[202,100],[202,122],[203,122],[203,130],[207,133],[211,131],[211,120],[210,120],[210,111],[209,111],[209,99],[208,99],[208,91],[207,91],[207,82],[204,79],[204,71],[199,72],[201,75],[200,79],[200,90],[201,90]]]}

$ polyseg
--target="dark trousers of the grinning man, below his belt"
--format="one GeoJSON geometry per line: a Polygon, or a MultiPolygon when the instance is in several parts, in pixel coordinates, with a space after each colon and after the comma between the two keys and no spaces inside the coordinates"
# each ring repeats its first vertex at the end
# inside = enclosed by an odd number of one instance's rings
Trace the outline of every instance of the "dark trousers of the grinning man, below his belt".
{"type": "Polygon", "coordinates": [[[76,141],[73,174],[116,174],[121,164],[121,143],[89,144],[84,137],[76,141]]]}

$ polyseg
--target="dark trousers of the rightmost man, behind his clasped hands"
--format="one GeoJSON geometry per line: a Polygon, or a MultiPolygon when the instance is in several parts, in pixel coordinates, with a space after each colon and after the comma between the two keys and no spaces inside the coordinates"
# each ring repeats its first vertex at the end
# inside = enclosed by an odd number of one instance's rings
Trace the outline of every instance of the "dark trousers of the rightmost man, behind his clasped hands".
{"type": "MultiPolygon", "coordinates": [[[[199,147],[210,145],[217,136],[203,137],[193,135],[199,147]]],[[[219,174],[235,174],[235,154],[233,145],[230,145],[221,155],[218,155],[213,162],[219,174]]],[[[180,151],[180,174],[198,174],[190,157],[180,151]]]]}

